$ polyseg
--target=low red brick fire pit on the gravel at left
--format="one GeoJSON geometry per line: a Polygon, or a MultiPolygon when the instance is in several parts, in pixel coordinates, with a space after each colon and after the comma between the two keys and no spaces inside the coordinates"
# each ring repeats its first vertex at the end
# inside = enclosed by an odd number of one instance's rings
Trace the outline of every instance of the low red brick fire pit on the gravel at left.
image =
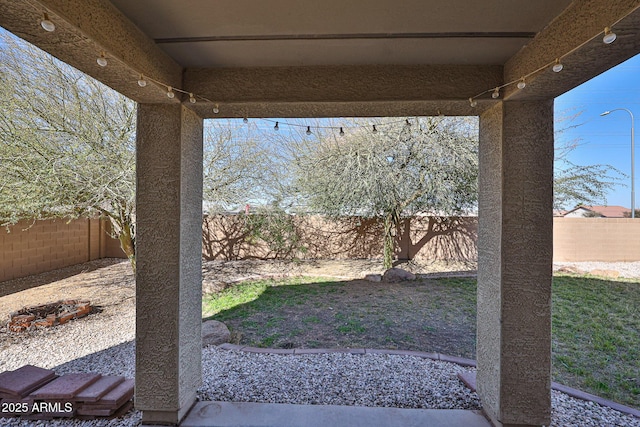
{"type": "Polygon", "coordinates": [[[22,332],[32,327],[48,328],[62,325],[71,319],[86,316],[91,310],[89,301],[75,299],[24,307],[9,315],[7,328],[12,332],[22,332]]]}

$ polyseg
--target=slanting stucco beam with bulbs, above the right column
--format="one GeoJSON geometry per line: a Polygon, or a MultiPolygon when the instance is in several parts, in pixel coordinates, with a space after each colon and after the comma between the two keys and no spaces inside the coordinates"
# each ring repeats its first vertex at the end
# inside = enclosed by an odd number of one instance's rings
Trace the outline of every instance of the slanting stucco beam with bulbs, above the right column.
{"type": "Polygon", "coordinates": [[[561,72],[545,68],[526,79],[526,88],[510,85],[506,99],[548,99],[584,83],[640,52],[638,0],[574,1],[529,44],[507,61],[504,81],[512,82],[559,58],[561,72]],[[615,25],[614,25],[615,24],[615,25]],[[617,39],[602,41],[605,27],[617,39]]]}

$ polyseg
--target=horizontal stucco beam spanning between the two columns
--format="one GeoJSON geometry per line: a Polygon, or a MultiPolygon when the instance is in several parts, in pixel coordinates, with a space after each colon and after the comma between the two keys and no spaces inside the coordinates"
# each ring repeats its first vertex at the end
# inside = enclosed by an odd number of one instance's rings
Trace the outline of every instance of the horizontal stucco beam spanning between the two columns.
{"type": "Polygon", "coordinates": [[[209,68],[187,69],[184,86],[212,101],[193,107],[204,117],[220,117],[211,112],[216,103],[220,114],[235,117],[351,115],[355,105],[369,105],[365,115],[391,115],[385,108],[401,105],[477,114],[482,106],[467,108],[468,98],[502,84],[502,75],[495,65],[209,68]]]}

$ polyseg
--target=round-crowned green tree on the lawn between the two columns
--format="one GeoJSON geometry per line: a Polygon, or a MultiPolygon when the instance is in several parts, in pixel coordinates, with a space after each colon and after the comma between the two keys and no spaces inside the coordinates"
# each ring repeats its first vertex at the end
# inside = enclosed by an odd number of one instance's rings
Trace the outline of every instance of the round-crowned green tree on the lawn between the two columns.
{"type": "MultiPolygon", "coordinates": [[[[460,215],[477,203],[477,122],[427,117],[378,122],[298,144],[295,186],[308,207],[332,217],[384,222],[384,265],[390,268],[403,217],[460,215]]],[[[357,122],[364,124],[362,122],[357,122]]]]}

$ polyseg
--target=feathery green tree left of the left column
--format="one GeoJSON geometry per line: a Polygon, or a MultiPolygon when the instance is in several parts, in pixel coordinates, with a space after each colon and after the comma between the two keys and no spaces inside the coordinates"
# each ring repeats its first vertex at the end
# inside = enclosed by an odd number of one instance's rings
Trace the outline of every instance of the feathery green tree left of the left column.
{"type": "Polygon", "coordinates": [[[135,268],[135,104],[5,31],[0,62],[0,222],[100,215],[135,268]]]}

